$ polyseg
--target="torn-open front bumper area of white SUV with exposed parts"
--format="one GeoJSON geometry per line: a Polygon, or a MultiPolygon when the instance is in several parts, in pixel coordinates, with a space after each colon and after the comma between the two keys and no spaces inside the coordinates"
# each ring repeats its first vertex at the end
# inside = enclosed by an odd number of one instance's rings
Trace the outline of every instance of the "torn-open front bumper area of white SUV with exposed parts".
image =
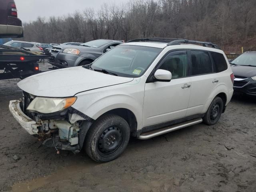
{"type": "Polygon", "coordinates": [[[24,114],[20,107],[21,104],[22,100],[12,100],[9,110],[29,134],[43,140],[45,146],[54,147],[56,150],[71,150],[75,153],[80,151],[86,133],[92,124],[92,119],[70,108],[64,112],[64,115],[36,114],[35,121],[32,119],[35,116],[30,118],[24,114]],[[67,116],[68,118],[65,118],[67,116]]]}

